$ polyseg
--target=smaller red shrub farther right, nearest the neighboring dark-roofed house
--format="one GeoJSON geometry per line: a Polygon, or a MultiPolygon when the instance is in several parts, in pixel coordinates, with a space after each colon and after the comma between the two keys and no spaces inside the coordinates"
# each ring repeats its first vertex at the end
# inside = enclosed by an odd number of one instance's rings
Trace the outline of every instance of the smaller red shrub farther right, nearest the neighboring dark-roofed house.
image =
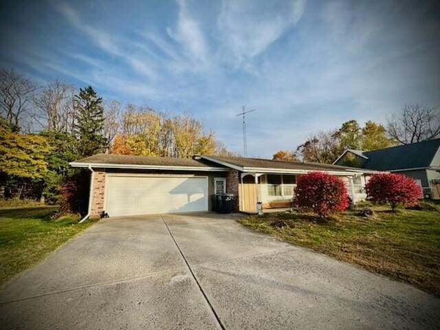
{"type": "Polygon", "coordinates": [[[390,203],[395,210],[397,204],[406,206],[417,205],[421,196],[421,188],[406,175],[395,173],[380,173],[373,175],[365,186],[366,196],[373,203],[390,203]]]}

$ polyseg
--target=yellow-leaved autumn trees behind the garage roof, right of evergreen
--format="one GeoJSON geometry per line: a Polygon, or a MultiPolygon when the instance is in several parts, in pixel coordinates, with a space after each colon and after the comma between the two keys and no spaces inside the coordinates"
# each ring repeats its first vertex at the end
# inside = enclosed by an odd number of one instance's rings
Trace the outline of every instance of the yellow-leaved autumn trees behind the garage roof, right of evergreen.
{"type": "MultiPolygon", "coordinates": [[[[114,109],[112,116],[118,118],[120,109],[114,109]]],[[[107,130],[113,141],[111,153],[180,158],[195,153],[232,155],[214,132],[205,133],[201,122],[187,114],[170,115],[129,104],[120,118],[107,130]]]]}

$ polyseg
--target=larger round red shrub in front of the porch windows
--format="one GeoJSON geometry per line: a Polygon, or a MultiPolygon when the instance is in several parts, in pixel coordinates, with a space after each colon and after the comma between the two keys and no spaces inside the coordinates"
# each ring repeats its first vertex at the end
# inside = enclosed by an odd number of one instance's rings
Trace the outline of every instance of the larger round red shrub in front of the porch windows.
{"type": "Polygon", "coordinates": [[[334,175],[311,172],[298,177],[295,202],[299,207],[311,208],[320,217],[345,210],[349,197],[344,181],[334,175]]]}

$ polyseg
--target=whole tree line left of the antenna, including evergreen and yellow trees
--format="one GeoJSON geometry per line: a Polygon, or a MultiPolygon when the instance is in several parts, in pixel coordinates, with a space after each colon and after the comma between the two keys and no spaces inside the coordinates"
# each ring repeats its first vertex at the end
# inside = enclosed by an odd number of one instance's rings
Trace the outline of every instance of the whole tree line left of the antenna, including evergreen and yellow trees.
{"type": "Polygon", "coordinates": [[[96,153],[231,154],[191,115],[134,104],[122,111],[120,102],[103,100],[91,86],[76,89],[61,80],[39,86],[14,70],[0,70],[0,111],[3,199],[56,203],[63,185],[88,186],[69,162],[96,153]]]}

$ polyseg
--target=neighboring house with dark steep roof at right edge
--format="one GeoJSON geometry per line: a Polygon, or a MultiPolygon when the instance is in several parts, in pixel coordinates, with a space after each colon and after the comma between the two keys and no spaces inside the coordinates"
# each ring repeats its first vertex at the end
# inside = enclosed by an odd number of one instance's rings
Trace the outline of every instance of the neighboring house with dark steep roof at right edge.
{"type": "Polygon", "coordinates": [[[440,139],[373,151],[347,149],[333,164],[405,174],[424,195],[440,199],[440,139]]]}

